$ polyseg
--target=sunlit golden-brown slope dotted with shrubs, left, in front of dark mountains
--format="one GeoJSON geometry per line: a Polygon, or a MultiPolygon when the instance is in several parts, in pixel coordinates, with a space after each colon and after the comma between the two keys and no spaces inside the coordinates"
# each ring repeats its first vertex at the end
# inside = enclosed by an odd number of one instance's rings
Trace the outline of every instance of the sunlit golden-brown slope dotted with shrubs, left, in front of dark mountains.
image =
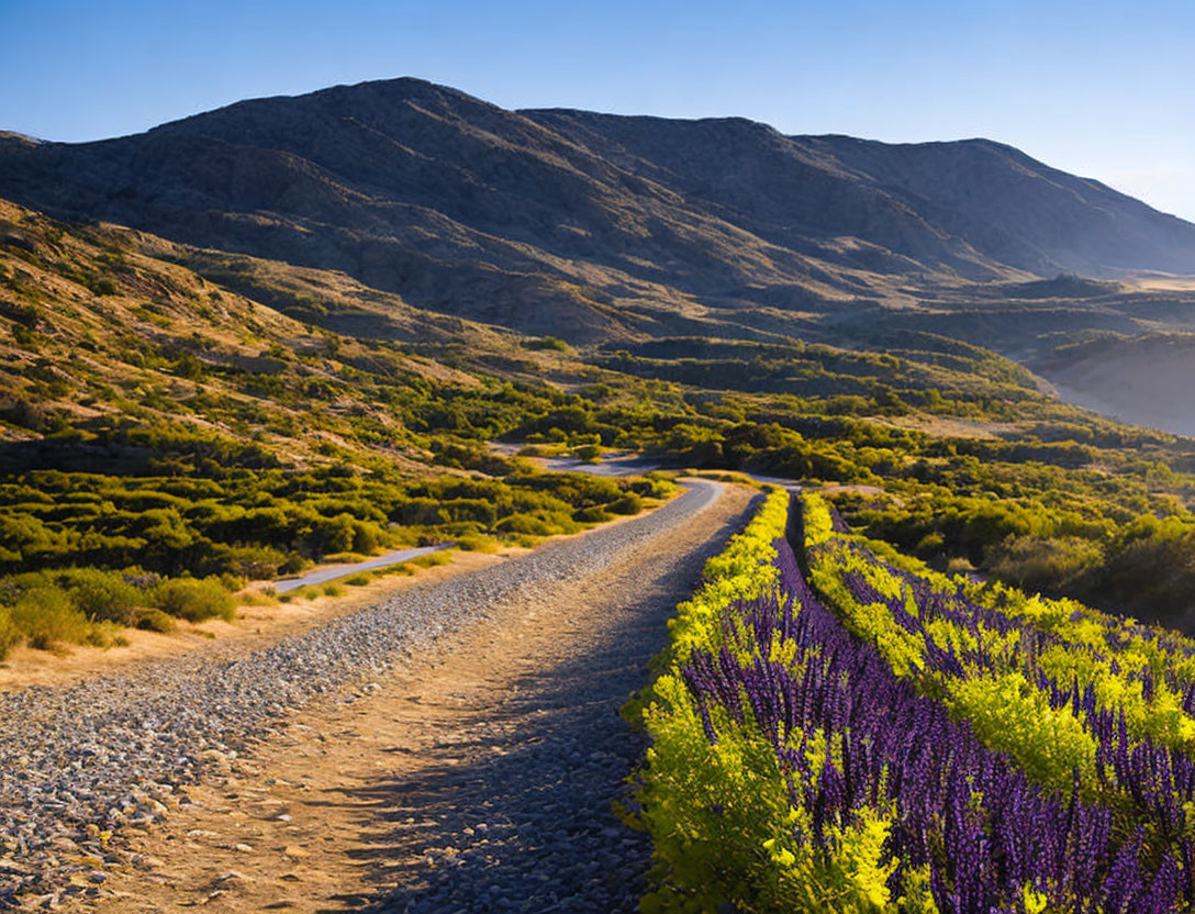
{"type": "Polygon", "coordinates": [[[566,351],[419,312],[343,275],[188,251],[0,200],[0,473],[182,472],[167,466],[176,456],[222,454],[253,467],[351,459],[417,474],[437,462],[431,440],[468,417],[505,410],[509,425],[526,415],[529,394],[504,385],[575,384],[577,370],[592,372],[566,351]]]}

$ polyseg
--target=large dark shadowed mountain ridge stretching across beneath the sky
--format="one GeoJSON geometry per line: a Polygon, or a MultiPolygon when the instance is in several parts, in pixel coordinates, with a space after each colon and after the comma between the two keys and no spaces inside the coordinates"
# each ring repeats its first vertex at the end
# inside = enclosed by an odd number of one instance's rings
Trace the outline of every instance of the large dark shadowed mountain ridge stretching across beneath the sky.
{"type": "Polygon", "coordinates": [[[0,134],[0,196],[576,342],[808,335],[932,288],[1195,272],[1195,226],[987,141],[507,111],[410,79],[94,143],[0,134]]]}

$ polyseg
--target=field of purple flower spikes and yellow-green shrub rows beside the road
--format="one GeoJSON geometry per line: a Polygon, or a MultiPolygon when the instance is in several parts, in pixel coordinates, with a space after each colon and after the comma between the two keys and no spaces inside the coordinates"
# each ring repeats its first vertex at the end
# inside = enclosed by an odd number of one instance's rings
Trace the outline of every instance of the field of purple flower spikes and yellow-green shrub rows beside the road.
{"type": "Polygon", "coordinates": [[[772,492],[679,608],[644,912],[1190,909],[1195,644],[884,552],[772,492]]]}

